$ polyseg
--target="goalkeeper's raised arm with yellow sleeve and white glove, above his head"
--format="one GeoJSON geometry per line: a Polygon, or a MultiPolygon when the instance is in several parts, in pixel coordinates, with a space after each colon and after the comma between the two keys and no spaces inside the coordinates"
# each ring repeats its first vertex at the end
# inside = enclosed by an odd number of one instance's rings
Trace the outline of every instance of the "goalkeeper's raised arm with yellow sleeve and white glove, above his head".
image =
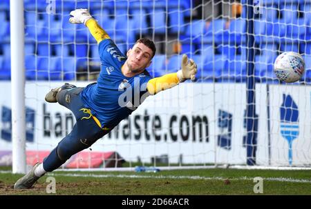
{"type": "Polygon", "coordinates": [[[96,39],[97,44],[104,39],[110,39],[109,35],[100,27],[91,16],[87,9],[77,9],[70,12],[70,23],[84,23],[88,30],[90,30],[93,37],[96,39]]]}

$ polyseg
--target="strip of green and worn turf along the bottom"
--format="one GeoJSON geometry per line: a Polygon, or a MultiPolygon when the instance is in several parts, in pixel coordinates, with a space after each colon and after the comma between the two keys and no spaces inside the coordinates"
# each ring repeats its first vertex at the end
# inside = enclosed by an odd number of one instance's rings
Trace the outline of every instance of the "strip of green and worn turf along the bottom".
{"type": "Polygon", "coordinates": [[[50,176],[55,177],[55,195],[311,195],[310,170],[57,171],[30,190],[14,190],[21,176],[0,172],[0,195],[51,195],[46,192],[50,176]],[[263,193],[254,193],[254,177],[263,178],[263,193]]]}

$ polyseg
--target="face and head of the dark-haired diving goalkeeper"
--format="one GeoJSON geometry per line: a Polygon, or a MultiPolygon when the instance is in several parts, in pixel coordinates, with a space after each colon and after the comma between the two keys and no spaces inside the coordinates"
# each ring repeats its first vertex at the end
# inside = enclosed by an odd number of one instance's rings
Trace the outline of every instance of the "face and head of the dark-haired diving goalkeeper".
{"type": "Polygon", "coordinates": [[[153,57],[152,50],[145,46],[144,43],[136,43],[133,49],[127,52],[127,66],[133,73],[143,72],[151,64],[153,57]]]}

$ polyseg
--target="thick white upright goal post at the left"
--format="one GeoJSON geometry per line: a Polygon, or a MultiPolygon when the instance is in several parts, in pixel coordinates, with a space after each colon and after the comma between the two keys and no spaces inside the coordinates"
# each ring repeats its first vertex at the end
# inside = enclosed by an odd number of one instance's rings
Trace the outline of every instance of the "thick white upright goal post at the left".
{"type": "MultiPolygon", "coordinates": [[[[12,172],[26,173],[23,0],[10,1],[12,172]]],[[[3,97],[7,97],[3,89],[3,97]]]]}

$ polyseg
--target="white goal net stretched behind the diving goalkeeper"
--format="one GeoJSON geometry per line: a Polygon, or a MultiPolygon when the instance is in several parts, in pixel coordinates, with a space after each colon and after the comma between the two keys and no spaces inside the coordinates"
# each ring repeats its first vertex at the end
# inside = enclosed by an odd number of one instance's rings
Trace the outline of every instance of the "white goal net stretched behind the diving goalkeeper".
{"type": "MultiPolygon", "coordinates": [[[[0,164],[6,164],[12,57],[10,5],[2,4],[0,164]]],[[[152,39],[153,77],[179,70],[182,54],[196,61],[198,76],[148,97],[62,168],[311,165],[310,0],[24,1],[28,164],[42,161],[75,123],[70,110],[44,101],[46,93],[65,82],[86,86],[100,72],[95,39],[84,24],[68,21],[76,8],[88,8],[124,54],[137,39],[152,39]],[[274,60],[285,51],[305,59],[296,83],[274,75],[274,60]]]]}

